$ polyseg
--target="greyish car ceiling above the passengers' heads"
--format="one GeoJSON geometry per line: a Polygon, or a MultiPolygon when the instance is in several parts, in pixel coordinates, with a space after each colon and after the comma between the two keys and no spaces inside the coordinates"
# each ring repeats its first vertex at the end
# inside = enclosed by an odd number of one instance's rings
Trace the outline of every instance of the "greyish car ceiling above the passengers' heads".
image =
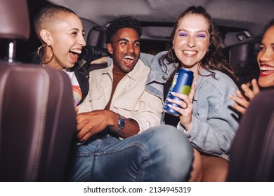
{"type": "MultiPolygon", "coordinates": [[[[228,45],[239,42],[236,34],[248,30],[252,38],[274,17],[273,0],[48,0],[74,10],[80,18],[104,27],[122,15],[137,18],[146,27],[143,38],[167,39],[176,17],[189,6],[204,6],[218,27],[229,28],[228,45]],[[157,23],[156,23],[157,22],[157,23]],[[155,27],[157,26],[157,27],[155,27]],[[160,26],[160,27],[159,27],[160,26]],[[235,32],[233,32],[235,31],[235,32]],[[232,35],[230,35],[232,34],[232,35]],[[233,36],[233,38],[232,38],[233,36]],[[229,40],[230,39],[230,40],[229,40]]],[[[227,33],[227,32],[226,32],[227,33]]],[[[242,40],[242,41],[249,41],[242,40]]]]}

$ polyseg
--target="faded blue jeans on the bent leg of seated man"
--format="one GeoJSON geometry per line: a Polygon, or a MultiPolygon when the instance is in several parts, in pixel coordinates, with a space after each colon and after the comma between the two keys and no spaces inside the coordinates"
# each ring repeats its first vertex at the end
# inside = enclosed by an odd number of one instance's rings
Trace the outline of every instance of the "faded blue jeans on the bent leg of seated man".
{"type": "Polygon", "coordinates": [[[70,181],[188,181],[193,148],[170,125],[120,140],[93,136],[75,146],[70,181]]]}

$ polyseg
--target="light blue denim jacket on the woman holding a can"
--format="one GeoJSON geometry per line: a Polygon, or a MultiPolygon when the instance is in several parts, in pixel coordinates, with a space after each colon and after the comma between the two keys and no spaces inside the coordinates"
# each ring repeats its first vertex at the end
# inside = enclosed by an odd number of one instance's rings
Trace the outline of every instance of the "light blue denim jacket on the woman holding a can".
{"type": "MultiPolygon", "coordinates": [[[[164,83],[175,67],[170,64],[168,70],[159,66],[158,58],[166,51],[157,55],[141,53],[141,60],[151,71],[146,82],[146,90],[160,97],[164,102],[164,83]],[[164,77],[163,77],[164,76],[164,77]]],[[[193,99],[193,126],[189,132],[178,123],[177,128],[183,131],[193,147],[202,153],[216,155],[229,159],[231,143],[238,127],[238,114],[232,109],[233,100],[230,94],[238,90],[233,80],[221,71],[214,71],[215,78],[209,71],[201,69],[202,76],[198,76],[193,99]]]]}

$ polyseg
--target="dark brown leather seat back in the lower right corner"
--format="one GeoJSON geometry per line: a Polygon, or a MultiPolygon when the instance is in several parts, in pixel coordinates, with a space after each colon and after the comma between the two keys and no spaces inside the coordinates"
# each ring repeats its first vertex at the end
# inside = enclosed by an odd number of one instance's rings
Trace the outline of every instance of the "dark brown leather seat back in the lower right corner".
{"type": "Polygon", "coordinates": [[[240,121],[228,181],[274,181],[274,90],[262,90],[240,121]]]}

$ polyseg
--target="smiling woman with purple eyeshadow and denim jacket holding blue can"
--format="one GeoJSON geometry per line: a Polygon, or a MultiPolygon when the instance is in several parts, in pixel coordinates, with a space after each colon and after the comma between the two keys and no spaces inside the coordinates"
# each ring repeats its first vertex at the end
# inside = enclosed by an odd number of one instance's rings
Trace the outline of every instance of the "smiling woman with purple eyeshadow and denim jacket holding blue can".
{"type": "MultiPolygon", "coordinates": [[[[209,13],[201,6],[191,6],[177,18],[169,50],[159,52],[150,63],[147,89],[159,92],[162,100],[166,95],[164,84],[172,80],[178,68],[194,73],[190,94],[174,93],[181,100],[168,99],[180,106],[170,106],[181,113],[175,125],[193,144],[195,160],[189,181],[226,181],[228,173],[230,145],[239,118],[229,95],[238,88],[220,42],[209,13]]],[[[141,59],[150,62],[143,54],[141,59]]]]}

